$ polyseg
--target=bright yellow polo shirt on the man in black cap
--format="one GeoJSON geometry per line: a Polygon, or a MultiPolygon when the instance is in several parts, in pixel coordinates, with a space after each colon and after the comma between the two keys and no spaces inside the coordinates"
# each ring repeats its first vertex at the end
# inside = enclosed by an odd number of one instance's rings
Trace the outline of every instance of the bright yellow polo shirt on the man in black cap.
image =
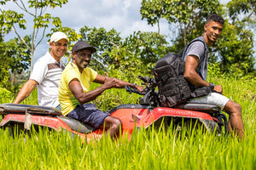
{"type": "Polygon", "coordinates": [[[61,82],[59,85],[59,101],[61,104],[61,112],[66,116],[70,111],[73,111],[79,101],[75,99],[68,84],[74,78],[77,78],[81,83],[84,93],[89,92],[90,82],[96,79],[97,72],[86,67],[82,74],[79,68],[72,62],[68,63],[65,70],[61,74],[61,82]]]}

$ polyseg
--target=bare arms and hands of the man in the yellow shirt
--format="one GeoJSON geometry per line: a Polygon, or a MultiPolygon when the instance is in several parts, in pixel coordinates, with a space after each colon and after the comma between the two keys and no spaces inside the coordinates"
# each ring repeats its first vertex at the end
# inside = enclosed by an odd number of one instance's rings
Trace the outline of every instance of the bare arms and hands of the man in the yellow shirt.
{"type": "MultiPolygon", "coordinates": [[[[124,82],[117,78],[108,77],[108,75],[103,77],[99,74],[96,76],[96,79],[93,82],[101,83],[102,86],[87,93],[83,92],[83,88],[78,79],[73,79],[71,82],[69,82],[68,86],[74,97],[79,100],[80,105],[84,105],[85,103],[95,100],[99,95],[101,95],[105,90],[109,88],[124,88],[125,85],[132,86],[132,84],[129,82],[124,82]]],[[[137,87],[141,88],[139,86],[137,87]]]]}

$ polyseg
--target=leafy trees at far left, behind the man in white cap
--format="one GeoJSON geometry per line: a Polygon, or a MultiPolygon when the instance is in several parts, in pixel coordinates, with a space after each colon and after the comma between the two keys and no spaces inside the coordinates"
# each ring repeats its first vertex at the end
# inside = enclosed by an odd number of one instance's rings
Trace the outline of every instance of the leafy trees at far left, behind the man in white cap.
{"type": "Polygon", "coordinates": [[[62,7],[67,3],[67,0],[33,0],[33,1],[13,1],[3,0],[0,2],[3,7],[7,3],[13,3],[16,7],[20,8],[21,13],[14,11],[12,8],[0,8],[0,25],[1,25],[1,59],[6,62],[2,63],[0,72],[0,81],[9,87],[10,74],[19,74],[31,68],[33,63],[33,54],[39,43],[42,42],[44,37],[50,37],[51,33],[47,33],[47,28],[50,24],[54,26],[51,31],[63,31],[67,33],[71,41],[76,41],[79,36],[74,29],[61,26],[61,20],[46,13],[48,8],[62,7]],[[21,29],[28,30],[26,20],[32,20],[32,28],[27,31],[28,35],[21,37],[21,29]],[[3,37],[14,31],[16,37],[9,42],[3,42],[3,37]],[[8,83],[7,83],[8,82],[8,83]]]}

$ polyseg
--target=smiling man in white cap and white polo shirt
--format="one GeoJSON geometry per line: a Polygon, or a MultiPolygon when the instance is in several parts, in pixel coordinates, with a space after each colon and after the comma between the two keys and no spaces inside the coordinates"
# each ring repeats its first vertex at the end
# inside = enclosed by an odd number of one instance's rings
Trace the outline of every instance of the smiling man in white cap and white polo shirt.
{"type": "Polygon", "coordinates": [[[67,42],[67,35],[61,31],[55,32],[50,37],[49,52],[33,65],[31,76],[20,89],[15,104],[26,99],[38,86],[38,105],[61,108],[58,100],[58,87],[61,72],[65,68],[61,63],[61,57],[67,52],[67,42]]]}

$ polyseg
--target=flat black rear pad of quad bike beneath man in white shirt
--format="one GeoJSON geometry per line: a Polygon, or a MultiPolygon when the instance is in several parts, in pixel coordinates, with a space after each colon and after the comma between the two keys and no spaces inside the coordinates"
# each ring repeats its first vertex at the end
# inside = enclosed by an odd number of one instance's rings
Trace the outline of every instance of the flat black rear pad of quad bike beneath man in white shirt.
{"type": "Polygon", "coordinates": [[[54,107],[39,105],[20,105],[20,104],[0,104],[0,115],[7,114],[32,114],[32,115],[49,115],[61,116],[62,113],[54,107]]]}

